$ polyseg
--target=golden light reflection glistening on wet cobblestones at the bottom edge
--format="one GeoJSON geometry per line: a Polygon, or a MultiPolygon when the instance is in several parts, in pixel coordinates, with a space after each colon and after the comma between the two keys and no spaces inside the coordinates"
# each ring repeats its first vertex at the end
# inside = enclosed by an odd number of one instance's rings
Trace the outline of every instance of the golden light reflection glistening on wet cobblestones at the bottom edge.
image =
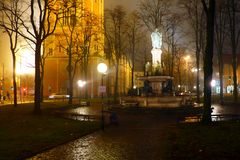
{"type": "MultiPolygon", "coordinates": [[[[123,159],[121,148],[114,147],[114,143],[105,141],[102,133],[95,133],[80,138],[65,145],[58,146],[45,153],[33,157],[33,160],[88,160],[88,159],[123,159]],[[111,154],[109,153],[111,152],[111,154]]],[[[119,146],[119,145],[117,145],[119,146]]]]}

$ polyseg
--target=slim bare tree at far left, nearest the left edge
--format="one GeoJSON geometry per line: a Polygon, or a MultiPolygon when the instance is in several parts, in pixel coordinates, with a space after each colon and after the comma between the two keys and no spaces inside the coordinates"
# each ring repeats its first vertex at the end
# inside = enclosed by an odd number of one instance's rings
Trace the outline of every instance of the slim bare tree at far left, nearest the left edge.
{"type": "Polygon", "coordinates": [[[16,83],[16,54],[18,52],[18,41],[19,41],[19,18],[15,15],[21,15],[24,13],[19,10],[20,8],[19,0],[14,1],[1,1],[0,2],[0,28],[7,33],[10,50],[12,54],[13,61],[13,92],[14,92],[14,106],[17,106],[17,83],[16,83]]]}

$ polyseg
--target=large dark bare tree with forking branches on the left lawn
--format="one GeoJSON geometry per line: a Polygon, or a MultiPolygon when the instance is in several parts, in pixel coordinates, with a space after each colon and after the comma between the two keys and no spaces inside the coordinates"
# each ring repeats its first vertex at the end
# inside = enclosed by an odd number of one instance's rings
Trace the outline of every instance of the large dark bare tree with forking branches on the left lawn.
{"type": "Polygon", "coordinates": [[[41,85],[42,85],[42,44],[44,40],[53,34],[58,22],[58,9],[55,0],[31,0],[21,1],[23,4],[21,10],[25,14],[14,14],[21,24],[20,30],[15,31],[20,36],[34,45],[35,52],[35,96],[34,113],[41,113],[41,85]]]}

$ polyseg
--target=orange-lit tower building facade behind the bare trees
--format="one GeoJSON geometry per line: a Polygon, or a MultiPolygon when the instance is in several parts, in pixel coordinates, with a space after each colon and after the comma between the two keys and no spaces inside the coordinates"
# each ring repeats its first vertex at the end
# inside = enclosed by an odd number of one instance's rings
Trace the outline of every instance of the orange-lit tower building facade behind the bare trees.
{"type": "MultiPolygon", "coordinates": [[[[45,97],[52,93],[68,94],[69,70],[73,77],[73,97],[99,97],[98,86],[101,74],[97,71],[100,62],[107,64],[104,54],[104,1],[77,0],[74,3],[63,3],[62,18],[55,33],[44,44],[44,89],[45,97]],[[64,9],[65,7],[65,9],[64,9]],[[71,54],[71,57],[69,57],[71,54]],[[69,59],[71,58],[71,65],[69,59]],[[78,86],[78,81],[85,81],[78,86]]],[[[111,67],[111,66],[109,66],[111,67]]],[[[113,94],[114,67],[103,78],[109,94],[113,94]]],[[[119,94],[127,93],[130,87],[130,69],[122,60],[119,70],[119,94]]]]}

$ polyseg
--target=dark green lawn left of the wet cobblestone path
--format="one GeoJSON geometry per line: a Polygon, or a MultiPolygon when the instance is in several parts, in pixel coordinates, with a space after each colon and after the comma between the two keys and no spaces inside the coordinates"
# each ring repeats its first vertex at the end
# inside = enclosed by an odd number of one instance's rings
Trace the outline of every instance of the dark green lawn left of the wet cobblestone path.
{"type": "Polygon", "coordinates": [[[39,116],[33,115],[33,104],[0,106],[0,159],[26,158],[99,129],[99,122],[68,120],[53,114],[66,106],[44,103],[39,116]]]}

